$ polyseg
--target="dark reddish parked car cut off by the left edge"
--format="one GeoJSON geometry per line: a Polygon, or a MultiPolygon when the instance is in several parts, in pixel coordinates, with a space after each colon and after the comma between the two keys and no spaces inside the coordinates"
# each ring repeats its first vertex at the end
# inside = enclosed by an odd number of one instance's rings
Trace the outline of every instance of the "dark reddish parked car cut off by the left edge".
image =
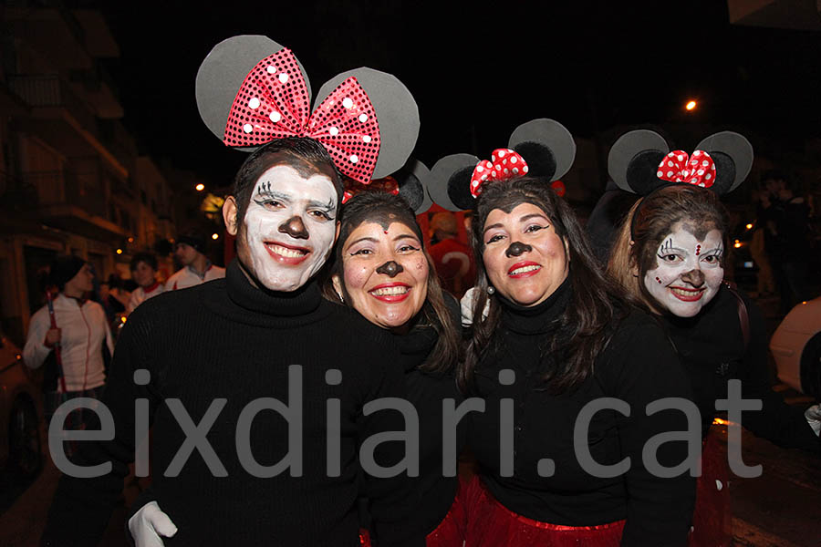
{"type": "Polygon", "coordinates": [[[23,478],[43,465],[43,397],[20,348],[0,333],[0,467],[23,478]]]}

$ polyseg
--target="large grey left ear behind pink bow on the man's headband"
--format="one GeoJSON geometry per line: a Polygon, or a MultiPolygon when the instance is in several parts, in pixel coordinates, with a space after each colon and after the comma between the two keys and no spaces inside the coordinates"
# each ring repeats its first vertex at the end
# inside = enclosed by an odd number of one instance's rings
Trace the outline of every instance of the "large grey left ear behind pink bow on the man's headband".
{"type": "MultiPolygon", "coordinates": [[[[220,140],[225,139],[228,115],[234,105],[234,98],[252,70],[263,59],[285,49],[267,36],[234,36],[213,46],[197,71],[195,92],[197,108],[206,127],[220,140]]],[[[296,57],[294,57],[296,60],[296,57]]],[[[296,60],[296,67],[305,81],[306,104],[310,104],[311,85],[305,69],[296,60]]],[[[270,71],[270,68],[265,67],[270,71]]],[[[300,86],[301,88],[301,86],[300,86]]],[[[241,135],[244,131],[237,131],[241,135]]],[[[234,146],[237,150],[254,151],[258,144],[244,142],[234,146]]]]}

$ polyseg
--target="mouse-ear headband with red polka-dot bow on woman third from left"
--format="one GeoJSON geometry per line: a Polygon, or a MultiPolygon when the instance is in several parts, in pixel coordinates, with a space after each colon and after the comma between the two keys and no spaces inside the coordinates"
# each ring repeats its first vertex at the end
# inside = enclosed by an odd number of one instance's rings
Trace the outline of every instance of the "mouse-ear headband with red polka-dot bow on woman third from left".
{"type": "Polygon", "coordinates": [[[565,126],[554,119],[534,119],[516,128],[508,148],[496,149],[491,160],[470,154],[453,154],[431,169],[431,199],[448,211],[473,209],[474,199],[486,181],[506,181],[524,175],[545,177],[559,195],[558,181],[576,158],[576,142],[565,126]]]}

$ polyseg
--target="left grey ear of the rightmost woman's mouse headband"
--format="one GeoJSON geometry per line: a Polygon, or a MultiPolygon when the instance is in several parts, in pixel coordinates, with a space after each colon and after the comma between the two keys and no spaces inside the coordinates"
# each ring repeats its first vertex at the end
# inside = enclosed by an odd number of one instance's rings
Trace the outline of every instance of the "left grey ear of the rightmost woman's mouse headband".
{"type": "Polygon", "coordinates": [[[628,131],[610,147],[608,174],[621,190],[647,195],[666,184],[659,180],[656,172],[669,151],[667,141],[655,131],[628,131]]]}

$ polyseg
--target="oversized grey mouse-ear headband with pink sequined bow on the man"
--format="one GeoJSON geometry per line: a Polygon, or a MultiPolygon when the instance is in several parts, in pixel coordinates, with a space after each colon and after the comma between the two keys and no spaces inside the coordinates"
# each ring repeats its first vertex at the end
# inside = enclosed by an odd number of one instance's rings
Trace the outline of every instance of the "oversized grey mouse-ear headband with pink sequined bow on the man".
{"type": "Polygon", "coordinates": [[[226,146],[250,152],[274,139],[308,137],[363,184],[399,170],[419,135],[411,92],[372,68],[331,78],[311,110],[305,69],[267,36],[234,36],[214,46],[197,72],[196,97],[205,125],[226,146]]]}

